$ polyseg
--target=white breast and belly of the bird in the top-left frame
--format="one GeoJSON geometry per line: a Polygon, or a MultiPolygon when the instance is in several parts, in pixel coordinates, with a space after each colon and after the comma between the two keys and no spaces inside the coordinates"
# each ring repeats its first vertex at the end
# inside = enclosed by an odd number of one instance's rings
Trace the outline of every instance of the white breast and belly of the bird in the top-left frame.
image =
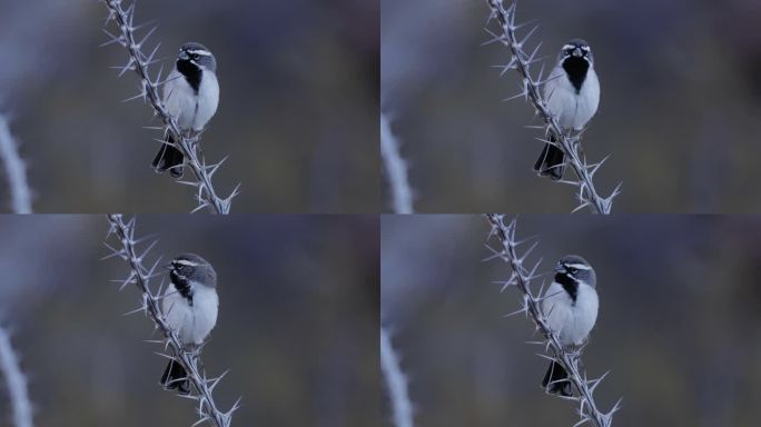
{"type": "Polygon", "coordinates": [[[164,85],[164,103],[182,130],[204,129],[219,105],[219,83],[213,72],[204,71],[198,95],[179,71],[172,70],[164,85]]]}

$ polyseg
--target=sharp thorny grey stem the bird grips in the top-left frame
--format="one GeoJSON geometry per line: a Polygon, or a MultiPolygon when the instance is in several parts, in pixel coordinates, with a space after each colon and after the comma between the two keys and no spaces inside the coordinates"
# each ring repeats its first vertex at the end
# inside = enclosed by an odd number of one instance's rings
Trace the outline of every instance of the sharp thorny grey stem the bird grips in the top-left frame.
{"type": "MultiPolygon", "coordinates": [[[[142,99],[144,101],[150,102],[151,107],[154,108],[155,116],[158,116],[161,121],[164,121],[166,132],[171,136],[172,140],[177,141],[175,142],[175,147],[177,147],[177,149],[180,150],[182,156],[185,156],[187,159],[195,181],[180,182],[194,186],[198,189],[198,192],[196,193],[198,207],[194,209],[194,211],[209,208],[216,214],[229,214],[233,198],[238,195],[240,185],[236,186],[236,188],[227,198],[223,199],[221,197],[217,196],[217,192],[211,185],[211,177],[225,160],[221,160],[215,165],[206,165],[202,156],[199,155],[200,149],[198,145],[200,136],[188,136],[184,133],[177,126],[177,120],[175,120],[175,118],[171,117],[167,111],[161,97],[159,97],[158,87],[164,83],[161,81],[161,71],[159,70],[156,79],[151,79],[148,72],[149,66],[158,61],[156,58],[156,52],[158,51],[160,43],[154,48],[150,54],[145,54],[142,52],[142,47],[148,37],[152,34],[154,30],[156,30],[156,27],[149,30],[148,33],[138,41],[135,31],[138,30],[140,26],[136,26],[134,23],[135,3],[129,6],[127,9],[123,9],[121,7],[122,0],[103,0],[103,2],[109,10],[106,22],[108,23],[110,21],[116,21],[117,26],[119,27],[118,36],[113,36],[103,30],[110,37],[110,40],[105,44],[119,43],[129,51],[129,61],[126,66],[119,67],[119,76],[122,76],[128,70],[134,70],[140,77],[140,93],[130,99],[142,99]]],[[[164,140],[159,140],[159,142],[168,143],[164,140]]]]}

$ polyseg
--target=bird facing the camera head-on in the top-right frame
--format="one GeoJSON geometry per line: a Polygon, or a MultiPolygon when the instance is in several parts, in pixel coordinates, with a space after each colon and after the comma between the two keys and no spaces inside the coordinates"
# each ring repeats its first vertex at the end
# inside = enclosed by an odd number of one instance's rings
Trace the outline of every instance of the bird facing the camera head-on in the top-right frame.
{"type": "MultiPolygon", "coordinates": [[[[550,72],[544,85],[544,99],[550,112],[557,119],[564,131],[580,131],[597,112],[600,106],[600,80],[594,71],[594,57],[590,44],[582,39],[573,39],[563,46],[557,54],[557,64],[550,72]]],[[[555,136],[534,165],[541,176],[552,180],[563,178],[564,153],[559,148],[555,136]]]]}

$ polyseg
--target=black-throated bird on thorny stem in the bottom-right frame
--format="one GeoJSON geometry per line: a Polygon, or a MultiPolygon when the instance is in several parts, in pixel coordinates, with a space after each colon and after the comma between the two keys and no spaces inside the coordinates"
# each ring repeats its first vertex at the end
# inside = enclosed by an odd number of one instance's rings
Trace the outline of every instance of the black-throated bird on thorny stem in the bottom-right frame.
{"type": "MultiPolygon", "coordinates": [[[[592,266],[577,255],[567,255],[555,265],[555,278],[542,299],[542,312],[547,325],[564,348],[581,346],[597,320],[596,275],[592,266]]],[[[547,393],[572,396],[569,375],[553,360],[542,387],[547,393]]]]}

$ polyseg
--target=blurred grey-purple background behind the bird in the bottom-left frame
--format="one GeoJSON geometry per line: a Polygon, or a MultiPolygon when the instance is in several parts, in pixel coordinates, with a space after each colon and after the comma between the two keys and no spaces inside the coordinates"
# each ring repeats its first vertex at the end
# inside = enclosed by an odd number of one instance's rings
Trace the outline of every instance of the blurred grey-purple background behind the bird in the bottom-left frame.
{"type": "MultiPolygon", "coordinates": [[[[36,425],[189,426],[194,403],[158,384],[166,359],[123,261],[100,260],[101,216],[0,216],[0,325],[30,379],[36,425]]],[[[378,220],[374,217],[139,216],[154,255],[206,257],[219,277],[204,348],[234,426],[382,426],[378,220]]],[[[111,240],[111,244],[116,241],[111,240]]],[[[149,261],[154,261],[149,257],[149,261]]],[[[158,287],[157,280],[154,286],[158,287]]],[[[0,426],[9,426],[0,381],[0,426]]]]}

